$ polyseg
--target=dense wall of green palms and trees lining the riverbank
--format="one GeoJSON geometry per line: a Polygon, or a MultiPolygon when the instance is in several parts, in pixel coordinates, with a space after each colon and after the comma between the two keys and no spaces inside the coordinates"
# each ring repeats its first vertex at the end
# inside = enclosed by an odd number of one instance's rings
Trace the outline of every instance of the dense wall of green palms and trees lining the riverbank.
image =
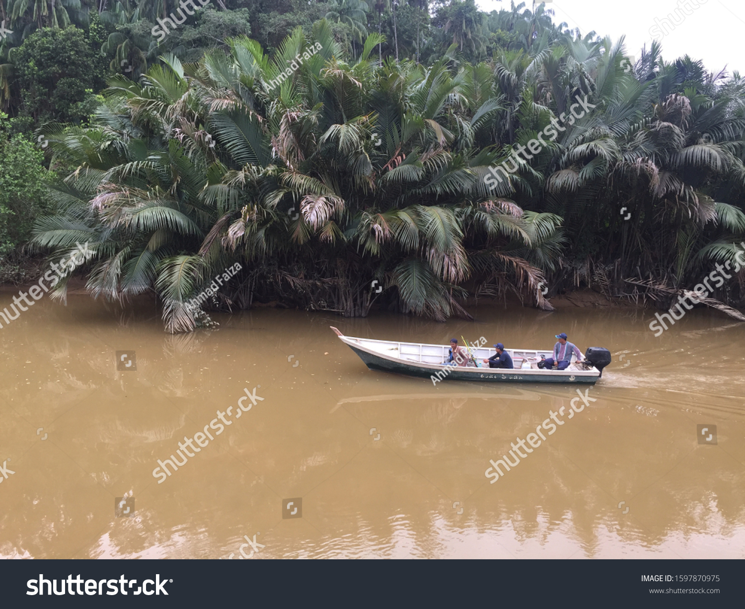
{"type": "MultiPolygon", "coordinates": [[[[690,288],[714,262],[735,265],[737,73],[665,62],[658,45],[632,64],[622,41],[581,37],[543,6],[218,0],[156,44],[150,28],[176,7],[94,13],[75,48],[102,40],[118,74],[88,120],[95,98],[72,84],[64,102],[37,95],[19,111],[72,123],[45,130],[67,177],[33,247],[64,256],[89,242],[92,293],[156,291],[171,331],[202,319],[186,301],[235,261],[244,271],[213,306],[367,315],[377,301],[441,320],[467,317],[468,294],[550,309],[542,284],[690,288]],[[495,182],[525,146],[527,162],[495,182]]],[[[59,36],[48,32],[11,49],[16,81],[56,78],[32,62],[59,36]]],[[[741,303],[743,276],[716,296],[741,303]]]]}

